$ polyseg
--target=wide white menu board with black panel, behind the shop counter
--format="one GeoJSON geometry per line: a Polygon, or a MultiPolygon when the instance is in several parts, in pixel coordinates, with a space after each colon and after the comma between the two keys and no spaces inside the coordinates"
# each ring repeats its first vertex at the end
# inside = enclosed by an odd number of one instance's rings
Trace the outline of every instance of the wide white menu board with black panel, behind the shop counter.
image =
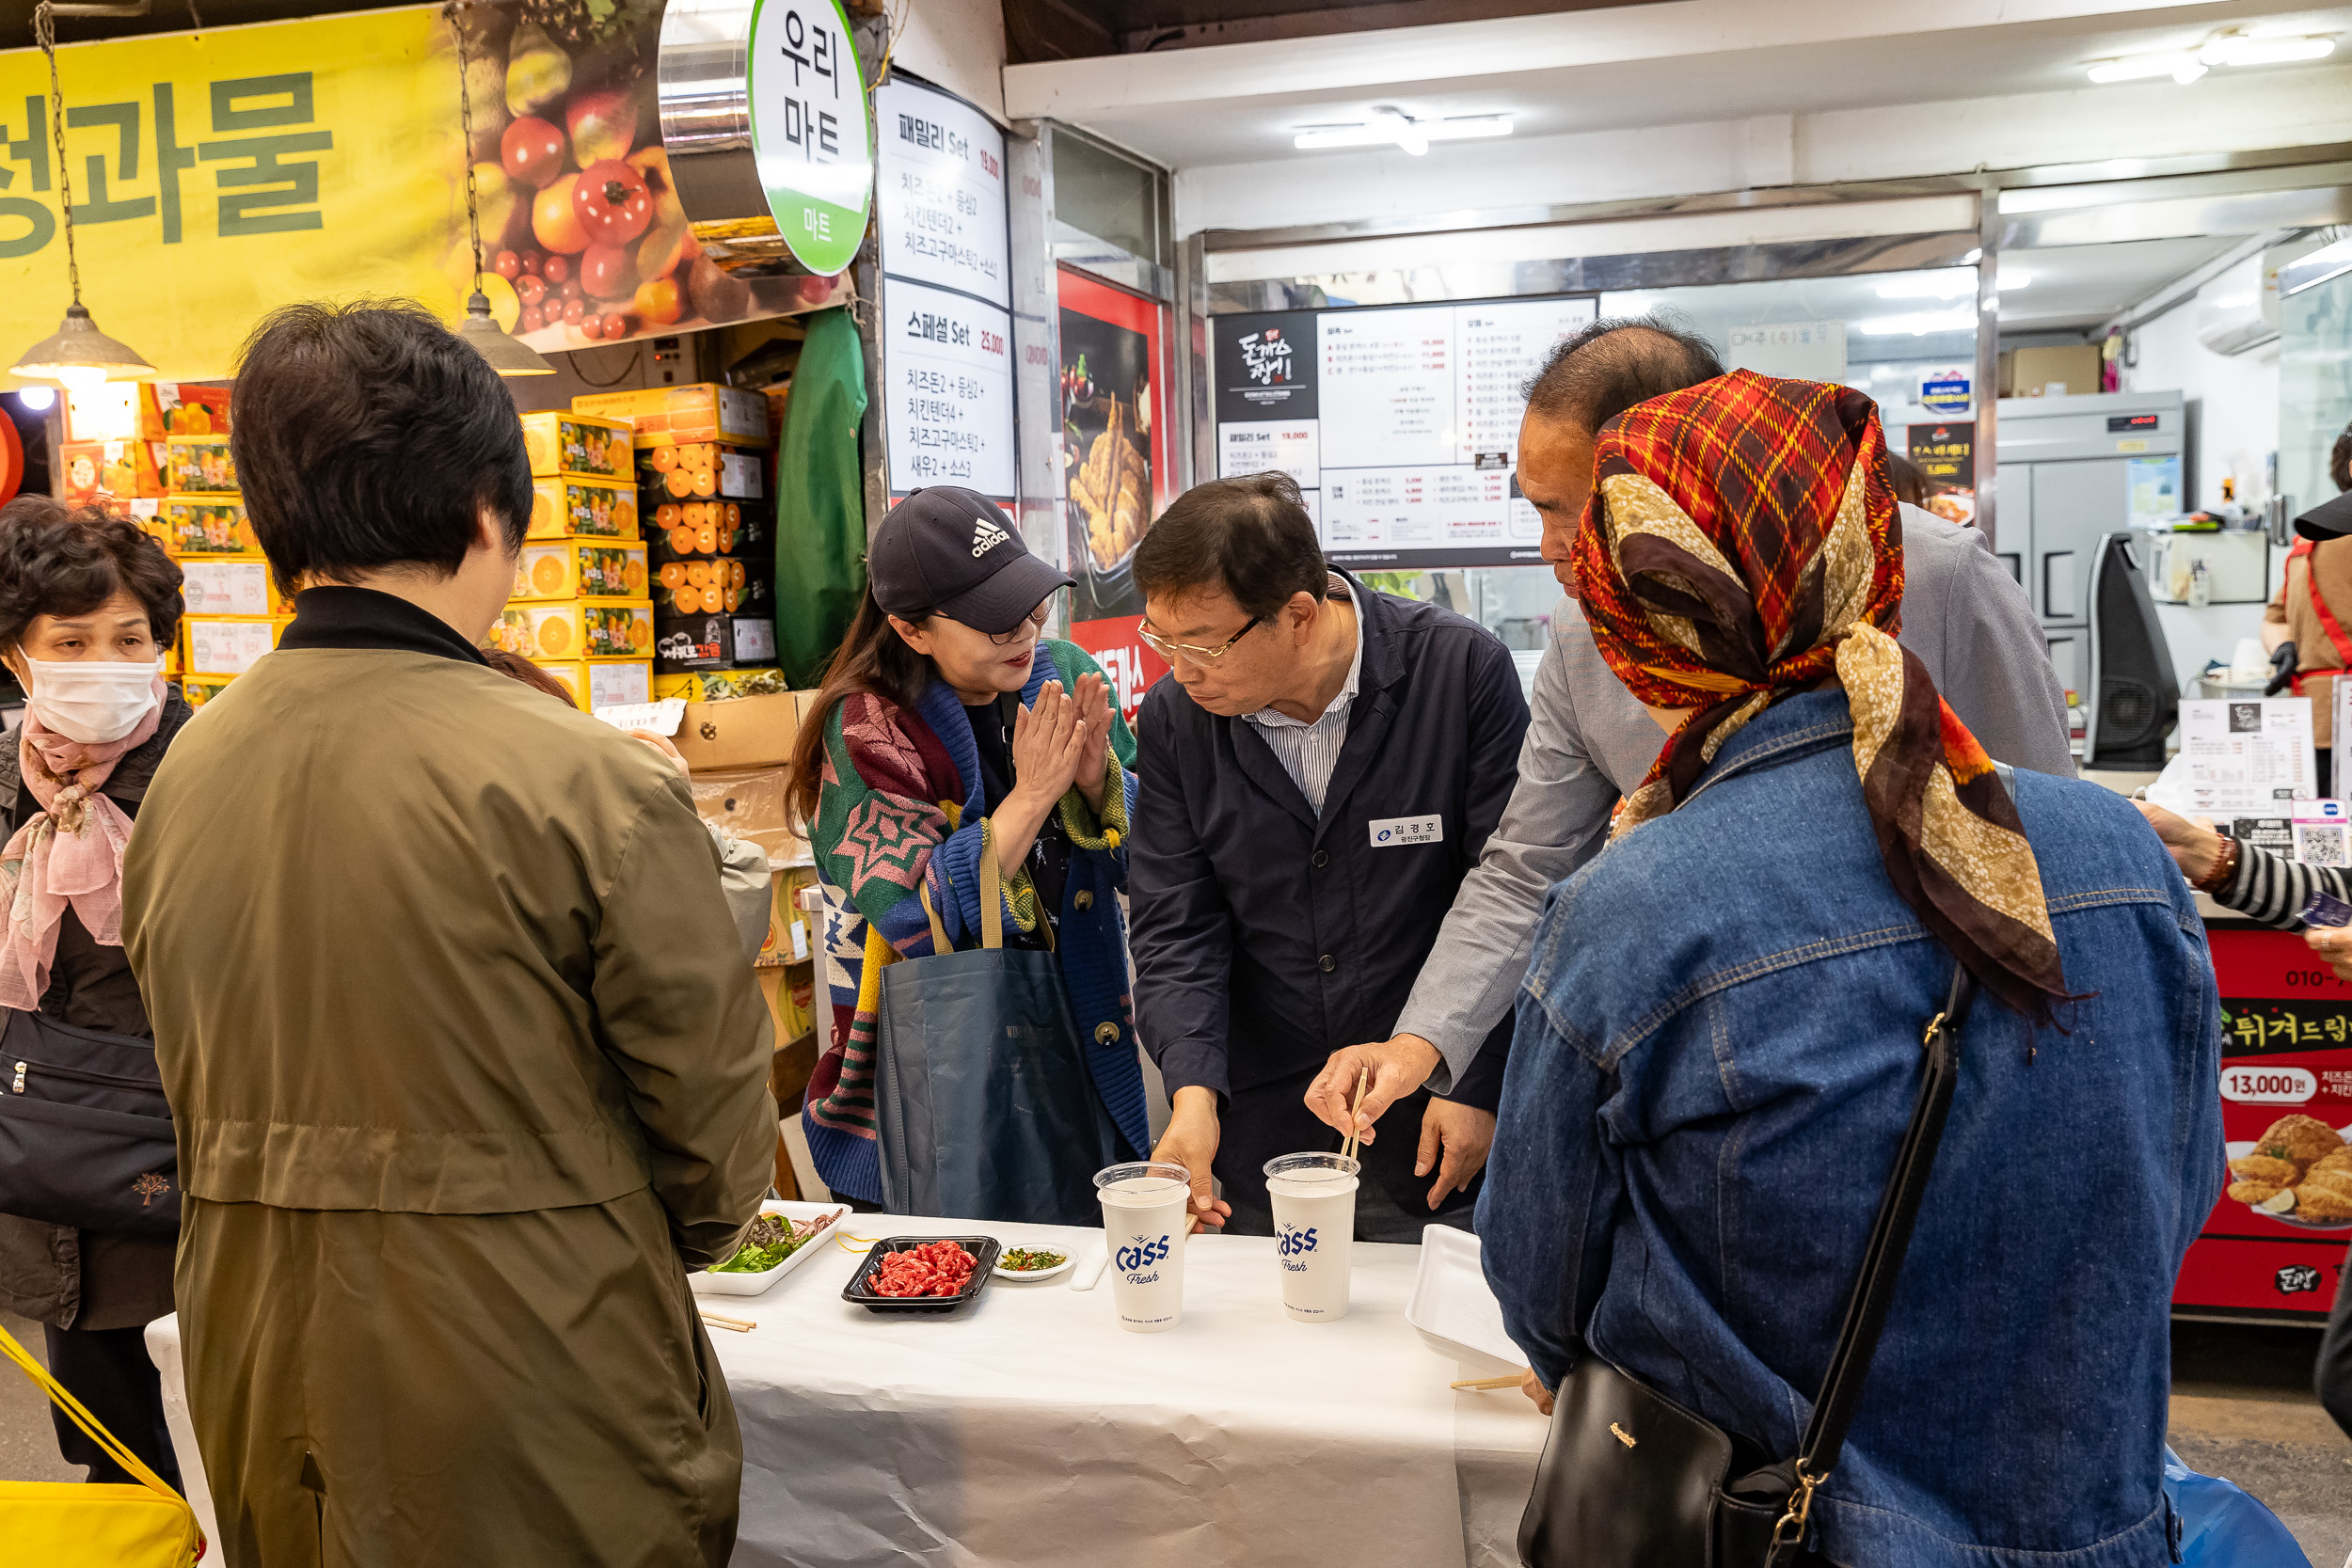
{"type": "Polygon", "coordinates": [[[1578,294],[1211,317],[1218,475],[1287,473],[1345,567],[1536,562],[1522,388],[1592,317],[1578,294]]]}

